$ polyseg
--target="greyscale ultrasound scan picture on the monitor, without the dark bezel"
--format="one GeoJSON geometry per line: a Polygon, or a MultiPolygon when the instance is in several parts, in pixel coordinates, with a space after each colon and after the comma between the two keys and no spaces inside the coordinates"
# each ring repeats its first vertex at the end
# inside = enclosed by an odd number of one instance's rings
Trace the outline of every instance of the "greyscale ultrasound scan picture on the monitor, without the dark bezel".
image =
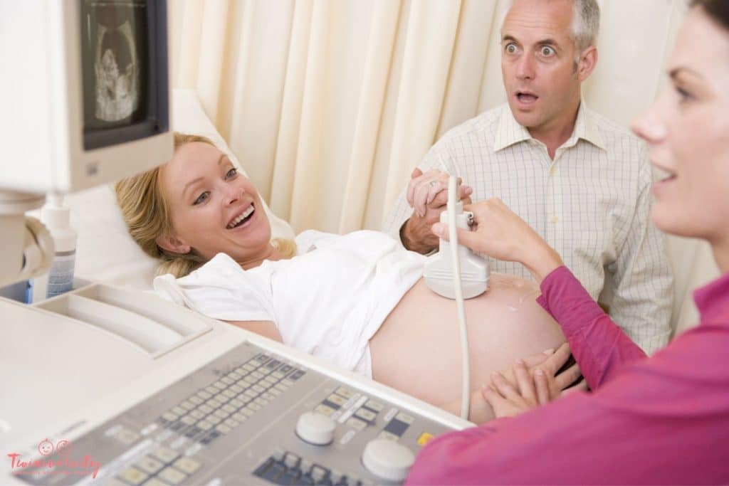
{"type": "Polygon", "coordinates": [[[83,1],[86,131],[147,118],[148,50],[146,0],[83,1]]]}

